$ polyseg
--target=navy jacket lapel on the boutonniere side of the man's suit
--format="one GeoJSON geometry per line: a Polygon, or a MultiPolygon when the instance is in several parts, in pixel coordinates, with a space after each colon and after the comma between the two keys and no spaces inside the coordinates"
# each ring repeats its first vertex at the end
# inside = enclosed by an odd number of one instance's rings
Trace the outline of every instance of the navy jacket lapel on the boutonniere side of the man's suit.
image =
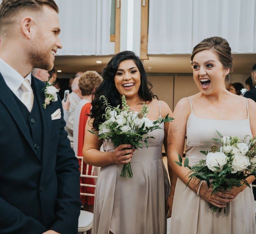
{"type": "Polygon", "coordinates": [[[32,76],[31,82],[34,87],[34,95],[36,96],[38,100],[38,105],[39,105],[39,111],[41,115],[41,120],[42,120],[42,163],[45,162],[47,159],[49,147],[50,147],[50,136],[51,136],[51,124],[52,124],[52,118],[51,118],[51,113],[52,113],[52,103],[50,103],[48,106],[46,106],[46,109],[43,108],[44,104],[44,99],[45,95],[44,92],[42,92],[42,88],[40,87],[38,82],[36,82],[32,76]]]}

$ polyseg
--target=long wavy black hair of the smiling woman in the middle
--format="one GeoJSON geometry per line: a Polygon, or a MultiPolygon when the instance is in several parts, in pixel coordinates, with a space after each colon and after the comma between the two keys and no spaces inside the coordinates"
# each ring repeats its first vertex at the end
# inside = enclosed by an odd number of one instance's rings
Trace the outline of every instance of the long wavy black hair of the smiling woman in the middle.
{"type": "MultiPolygon", "coordinates": [[[[147,75],[145,69],[143,67],[142,62],[139,57],[134,54],[132,51],[123,51],[112,57],[112,59],[107,63],[107,66],[103,69],[102,77],[103,82],[96,89],[93,94],[92,100],[92,109],[90,113],[90,117],[94,118],[93,121],[93,129],[98,130],[99,123],[105,121],[103,114],[105,113],[105,106],[103,105],[103,100],[100,100],[100,96],[104,95],[107,98],[108,103],[111,106],[122,106],[121,96],[117,91],[114,77],[116,76],[116,72],[120,62],[124,60],[133,60],[136,66],[139,69],[140,73],[140,87],[139,87],[139,96],[141,99],[146,101],[152,101],[153,95],[151,92],[152,84],[147,80],[147,75]]],[[[157,98],[158,99],[158,98],[157,98]]]]}

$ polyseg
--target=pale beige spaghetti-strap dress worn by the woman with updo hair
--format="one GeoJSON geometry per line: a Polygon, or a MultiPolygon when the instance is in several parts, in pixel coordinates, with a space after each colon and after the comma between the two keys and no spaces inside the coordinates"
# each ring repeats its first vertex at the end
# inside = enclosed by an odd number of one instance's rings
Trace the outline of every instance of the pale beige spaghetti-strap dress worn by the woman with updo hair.
{"type": "MultiPolygon", "coordinates": [[[[201,119],[191,114],[186,125],[186,157],[190,164],[205,158],[200,151],[209,151],[218,138],[216,130],[223,136],[238,135],[241,139],[251,135],[250,119],[214,120],[201,119]]],[[[246,99],[248,110],[248,103],[246,99]]],[[[178,157],[177,157],[178,160],[178,157]]],[[[172,207],[171,234],[255,234],[255,208],[252,188],[245,188],[234,201],[226,206],[226,213],[213,213],[209,203],[197,196],[189,187],[177,180],[172,207]]]]}

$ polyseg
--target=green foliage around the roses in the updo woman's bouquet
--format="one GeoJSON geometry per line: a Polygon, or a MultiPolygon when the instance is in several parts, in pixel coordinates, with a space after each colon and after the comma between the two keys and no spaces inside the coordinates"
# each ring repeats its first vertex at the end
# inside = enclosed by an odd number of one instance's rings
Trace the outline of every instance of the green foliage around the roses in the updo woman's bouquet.
{"type": "MultiPolygon", "coordinates": [[[[217,131],[218,135],[223,138],[222,134],[219,133],[217,131]]],[[[244,139],[242,140],[242,142],[245,143],[246,139],[248,138],[248,135],[244,137],[244,139]]],[[[229,141],[231,142],[230,145],[232,145],[233,147],[237,147],[238,143],[240,142],[240,139],[238,138],[238,136],[230,136],[229,141]]],[[[217,141],[217,142],[223,142],[219,139],[214,139],[213,140],[217,141]]],[[[223,144],[222,144],[223,145],[223,144]]],[[[250,138],[249,140],[249,151],[246,153],[246,156],[249,157],[249,159],[251,158],[255,158],[256,157],[256,137],[254,138],[250,138]]],[[[214,148],[215,152],[219,152],[219,147],[217,147],[216,145],[214,145],[214,147],[212,146],[212,148],[214,148]],[[218,150],[217,150],[218,148],[218,150]]],[[[211,152],[211,151],[210,151],[211,152]]],[[[200,153],[202,153],[203,155],[207,156],[208,155],[208,151],[200,151],[200,153]]],[[[250,187],[248,181],[246,180],[249,176],[256,176],[256,164],[249,166],[245,171],[243,172],[239,172],[237,171],[236,173],[231,173],[232,172],[232,160],[233,160],[233,153],[225,153],[225,155],[228,157],[228,161],[224,166],[215,166],[215,171],[211,171],[207,166],[206,166],[206,159],[201,159],[198,162],[196,162],[193,165],[189,165],[189,158],[186,158],[184,160],[182,160],[182,157],[178,154],[178,159],[179,161],[177,163],[177,165],[179,166],[184,166],[186,169],[189,170],[189,182],[187,183],[186,186],[189,185],[190,181],[193,179],[199,179],[199,180],[203,180],[207,183],[208,188],[210,188],[210,186],[212,187],[212,194],[217,193],[219,191],[230,191],[232,187],[241,187],[241,186],[248,186],[250,187]]],[[[218,208],[215,207],[213,205],[210,205],[210,208],[213,212],[221,212],[222,208],[218,208]]],[[[225,212],[225,209],[224,209],[225,212]]]]}

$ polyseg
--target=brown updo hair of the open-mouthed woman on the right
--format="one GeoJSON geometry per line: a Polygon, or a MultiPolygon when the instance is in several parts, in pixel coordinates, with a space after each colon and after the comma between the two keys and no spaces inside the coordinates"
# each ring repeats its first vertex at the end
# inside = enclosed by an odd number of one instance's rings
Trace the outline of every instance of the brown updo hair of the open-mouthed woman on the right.
{"type": "MultiPolygon", "coordinates": [[[[231,55],[231,48],[229,46],[229,43],[226,39],[221,38],[219,36],[213,36],[211,38],[206,38],[199,42],[194,48],[193,52],[191,54],[191,63],[193,62],[194,56],[201,51],[204,51],[205,49],[211,49],[213,50],[218,58],[219,61],[222,63],[222,66],[224,69],[230,68],[230,72],[232,72],[233,67],[233,59],[231,55]]],[[[226,87],[230,83],[230,73],[226,75],[225,77],[225,85],[226,87]]]]}

